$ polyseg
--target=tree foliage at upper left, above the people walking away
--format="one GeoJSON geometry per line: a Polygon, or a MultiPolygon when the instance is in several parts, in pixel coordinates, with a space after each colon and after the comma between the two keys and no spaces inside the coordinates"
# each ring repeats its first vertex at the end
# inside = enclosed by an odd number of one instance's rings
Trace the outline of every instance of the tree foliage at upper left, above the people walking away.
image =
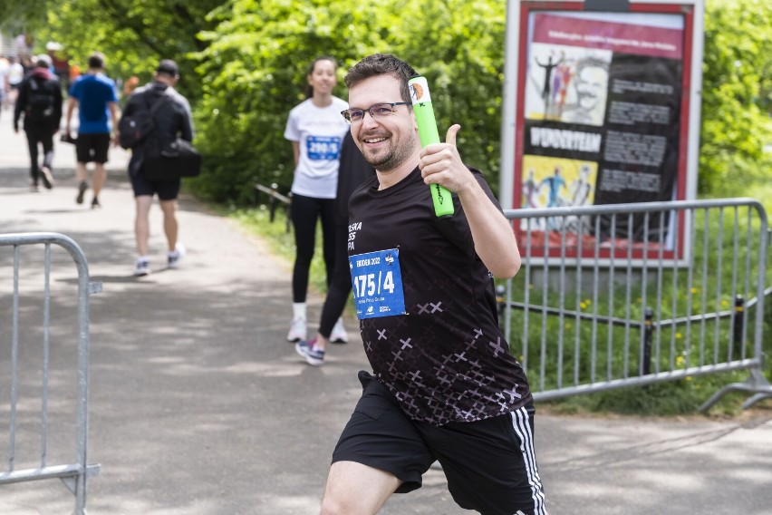
{"type": "Polygon", "coordinates": [[[205,48],[198,33],[217,24],[207,15],[227,0],[5,0],[0,15],[16,30],[34,34],[35,52],[63,44],[72,64],[86,67],[94,51],[107,57],[107,73],[119,82],[131,75],[150,80],[162,58],[179,63],[179,89],[200,95],[193,54],[205,48]]]}

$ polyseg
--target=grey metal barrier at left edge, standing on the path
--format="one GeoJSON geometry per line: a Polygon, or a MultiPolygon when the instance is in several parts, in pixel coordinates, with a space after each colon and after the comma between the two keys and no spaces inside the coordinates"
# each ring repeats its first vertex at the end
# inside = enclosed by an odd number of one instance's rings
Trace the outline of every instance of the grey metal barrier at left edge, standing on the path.
{"type": "MultiPolygon", "coordinates": [[[[0,365],[4,370],[10,369],[8,374],[0,374],[0,391],[9,395],[7,412],[4,409],[2,416],[7,417],[10,427],[8,465],[5,471],[0,468],[0,485],[59,478],[75,496],[75,514],[82,515],[86,512],[86,478],[97,474],[100,468],[100,465],[88,464],[86,452],[89,296],[101,291],[101,283],[90,281],[81,248],[71,238],[61,234],[0,235],[0,251],[4,248],[10,250],[0,252],[0,270],[11,267],[13,280],[10,295],[6,295],[5,289],[0,290],[0,300],[3,301],[0,310],[0,365]],[[59,305],[54,305],[55,309],[52,309],[52,298],[65,305],[62,311],[69,309],[66,304],[72,304],[73,300],[72,296],[61,300],[52,296],[52,285],[58,289],[67,282],[64,279],[52,281],[52,245],[69,253],[77,267],[77,306],[73,306],[77,313],[76,327],[72,327],[72,316],[64,316],[64,323],[52,329],[52,321],[60,319],[59,305]],[[10,309],[6,309],[8,303],[10,309]],[[39,317],[41,311],[42,318],[39,317]],[[1,321],[8,312],[11,315],[10,324],[1,321]],[[6,330],[9,326],[10,342],[6,330]],[[72,337],[60,337],[60,333],[67,331],[68,327],[72,337]],[[74,349],[73,340],[76,344],[74,349]],[[75,361],[63,365],[63,368],[69,369],[67,371],[54,366],[62,362],[62,355],[72,355],[75,361]],[[72,384],[66,384],[63,377],[72,377],[72,384]],[[75,387],[74,396],[72,386],[75,387]],[[39,409],[34,408],[37,402],[40,403],[39,409]],[[74,428],[69,418],[72,414],[74,428]],[[63,439],[59,431],[53,431],[53,424],[60,421],[62,423],[55,428],[62,429],[61,432],[73,432],[74,460],[67,462],[69,458],[63,458],[64,464],[52,464],[49,462],[53,461],[53,455],[58,457],[62,452],[50,443],[59,444],[68,440],[63,439]],[[30,437],[31,432],[36,434],[30,437]],[[34,447],[37,448],[36,455],[32,451],[34,447]],[[22,463],[33,466],[20,470],[22,463]]],[[[58,258],[58,253],[54,257],[58,258]]],[[[0,279],[3,279],[2,274],[0,279]]],[[[0,286],[5,288],[5,283],[0,286]]],[[[64,447],[69,447],[69,444],[64,447]]]]}

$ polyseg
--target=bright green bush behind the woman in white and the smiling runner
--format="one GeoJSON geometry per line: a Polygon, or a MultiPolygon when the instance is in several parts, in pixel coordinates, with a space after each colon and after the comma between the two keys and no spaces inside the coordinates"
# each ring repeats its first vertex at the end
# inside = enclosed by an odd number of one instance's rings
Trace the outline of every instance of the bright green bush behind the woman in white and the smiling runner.
{"type": "Polygon", "coordinates": [[[369,53],[394,53],[427,76],[440,132],[459,122],[459,148],[497,184],[504,7],[462,0],[235,0],[232,16],[203,35],[198,73],[202,145],[225,151],[199,181],[215,199],[246,199],[254,181],[292,181],[287,114],[304,99],[308,65],[332,55],[343,75],[369,53]],[[420,16],[406,16],[407,12],[420,16]],[[470,43],[474,42],[474,43],[470,43]],[[227,150],[226,150],[227,149],[227,150]]]}

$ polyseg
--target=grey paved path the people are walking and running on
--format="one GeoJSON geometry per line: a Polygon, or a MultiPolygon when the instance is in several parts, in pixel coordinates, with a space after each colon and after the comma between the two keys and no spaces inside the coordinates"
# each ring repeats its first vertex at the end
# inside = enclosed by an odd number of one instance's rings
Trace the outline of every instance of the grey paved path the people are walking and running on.
{"type": "MultiPolygon", "coordinates": [[[[305,365],[284,340],[289,265],[193,199],[182,200],[179,214],[183,266],[131,277],[127,156],[112,151],[103,209],[92,211],[88,194],[84,206],[74,203],[73,154],[57,141],[56,187],[29,192],[24,135],[14,135],[3,112],[0,233],[62,232],[103,284],[91,300],[89,449],[101,472],[89,482],[89,512],[318,513],[333,445],[359,394],[355,374],[366,367],[361,341],[352,335],[351,344],[333,346],[323,368],[305,365]]],[[[154,206],[157,267],[160,223],[154,206]]],[[[54,263],[65,275],[67,266],[54,263]]],[[[7,282],[0,277],[0,295],[7,282]]],[[[321,301],[311,299],[312,320],[321,301]]],[[[0,341],[7,331],[0,322],[0,341]]],[[[553,515],[772,513],[772,403],[743,421],[536,421],[553,515]]],[[[0,423],[0,442],[6,427],[0,423]]],[[[2,514],[61,515],[72,504],[59,481],[0,487],[2,514]]],[[[393,497],[381,513],[469,511],[450,500],[441,471],[429,471],[420,491],[393,497]]]]}

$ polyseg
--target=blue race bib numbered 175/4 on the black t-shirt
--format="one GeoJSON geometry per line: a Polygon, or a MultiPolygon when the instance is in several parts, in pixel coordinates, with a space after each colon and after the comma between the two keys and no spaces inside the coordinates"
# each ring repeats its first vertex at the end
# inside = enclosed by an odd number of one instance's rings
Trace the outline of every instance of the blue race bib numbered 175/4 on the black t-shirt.
{"type": "Polygon", "coordinates": [[[357,318],[406,314],[399,249],[350,256],[349,267],[357,318]]]}

